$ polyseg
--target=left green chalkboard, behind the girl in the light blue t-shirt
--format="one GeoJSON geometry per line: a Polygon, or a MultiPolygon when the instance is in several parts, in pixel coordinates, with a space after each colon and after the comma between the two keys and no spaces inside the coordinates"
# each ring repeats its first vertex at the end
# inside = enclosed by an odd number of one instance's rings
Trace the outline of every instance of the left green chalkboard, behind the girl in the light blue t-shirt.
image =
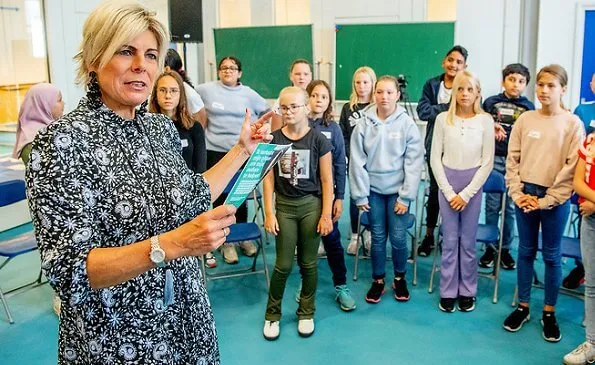
{"type": "Polygon", "coordinates": [[[289,66],[304,58],[312,64],[312,25],[220,28],[215,32],[217,62],[225,56],[242,61],[242,83],[262,97],[276,99],[290,86],[289,66]]]}

